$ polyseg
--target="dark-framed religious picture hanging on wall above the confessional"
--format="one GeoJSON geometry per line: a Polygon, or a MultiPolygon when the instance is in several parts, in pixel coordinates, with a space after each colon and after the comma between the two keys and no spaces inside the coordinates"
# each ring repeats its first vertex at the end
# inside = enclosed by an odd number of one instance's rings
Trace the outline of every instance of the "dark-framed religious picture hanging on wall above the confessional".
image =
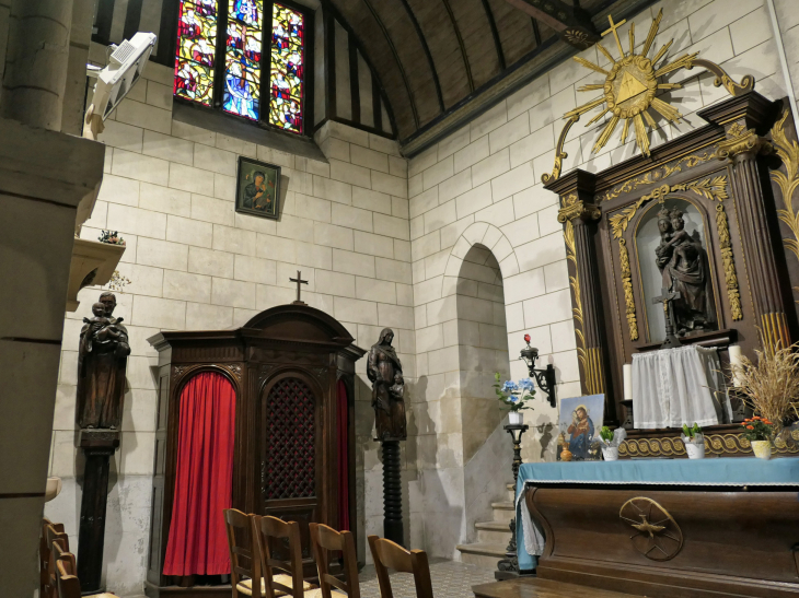
{"type": "Polygon", "coordinates": [[[280,214],[280,166],[239,156],[235,211],[277,220],[280,214]]]}

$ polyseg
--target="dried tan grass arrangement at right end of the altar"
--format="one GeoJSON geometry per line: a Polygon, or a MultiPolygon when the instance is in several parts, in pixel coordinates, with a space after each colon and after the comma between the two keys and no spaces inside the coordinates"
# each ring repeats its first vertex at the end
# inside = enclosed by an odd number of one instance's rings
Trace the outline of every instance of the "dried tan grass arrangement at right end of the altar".
{"type": "Polygon", "coordinates": [[[743,355],[740,365],[730,365],[728,377],[732,382],[734,376],[744,402],[779,432],[786,420],[799,417],[799,343],[763,345],[764,351],[755,350],[757,364],[743,355]]]}

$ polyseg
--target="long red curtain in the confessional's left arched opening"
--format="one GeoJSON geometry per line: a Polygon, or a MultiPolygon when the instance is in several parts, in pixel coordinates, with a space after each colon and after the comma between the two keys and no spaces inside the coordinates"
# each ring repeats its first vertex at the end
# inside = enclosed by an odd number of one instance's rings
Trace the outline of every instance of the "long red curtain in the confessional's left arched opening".
{"type": "Polygon", "coordinates": [[[175,500],[164,575],[230,573],[222,511],[231,507],[235,390],[201,372],[181,392],[175,500]]]}

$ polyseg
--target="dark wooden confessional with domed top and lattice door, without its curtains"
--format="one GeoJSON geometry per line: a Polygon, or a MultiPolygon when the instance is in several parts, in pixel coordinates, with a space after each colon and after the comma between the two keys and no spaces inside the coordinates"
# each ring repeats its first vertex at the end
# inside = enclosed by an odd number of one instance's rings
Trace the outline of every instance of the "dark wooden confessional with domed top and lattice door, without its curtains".
{"type": "MultiPolygon", "coordinates": [[[[336,319],[301,302],[267,309],[234,330],[160,332],[148,340],[159,351],[159,399],[147,595],[213,594],[209,587],[176,587],[172,576],[163,575],[181,391],[200,372],[222,374],[235,389],[233,508],[300,521],[304,574],[314,576],[308,524],[336,529],[339,524],[338,380],[347,388],[348,513],[357,532],[355,362],[366,352],[336,319]],[[298,413],[306,425],[289,429],[289,418],[298,413]],[[283,474],[270,474],[275,470],[283,474]]],[[[229,586],[219,589],[219,596],[230,596],[229,586]]]]}

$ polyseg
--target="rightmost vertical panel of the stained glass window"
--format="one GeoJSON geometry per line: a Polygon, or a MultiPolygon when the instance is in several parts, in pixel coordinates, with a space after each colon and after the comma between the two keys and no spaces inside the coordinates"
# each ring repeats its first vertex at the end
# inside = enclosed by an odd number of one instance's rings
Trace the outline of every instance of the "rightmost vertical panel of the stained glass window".
{"type": "Polygon", "coordinates": [[[301,13],[273,4],[269,122],[297,133],[302,132],[304,33],[301,13]]]}

